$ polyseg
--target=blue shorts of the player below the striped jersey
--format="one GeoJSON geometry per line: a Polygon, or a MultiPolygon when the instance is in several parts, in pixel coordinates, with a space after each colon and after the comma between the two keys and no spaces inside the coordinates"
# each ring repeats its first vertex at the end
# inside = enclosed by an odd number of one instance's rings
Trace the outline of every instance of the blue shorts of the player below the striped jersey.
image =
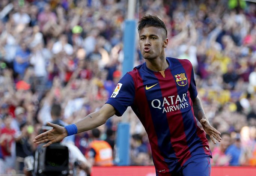
{"type": "Polygon", "coordinates": [[[210,176],[211,156],[199,154],[189,158],[176,173],[161,173],[157,176],[210,176]]]}

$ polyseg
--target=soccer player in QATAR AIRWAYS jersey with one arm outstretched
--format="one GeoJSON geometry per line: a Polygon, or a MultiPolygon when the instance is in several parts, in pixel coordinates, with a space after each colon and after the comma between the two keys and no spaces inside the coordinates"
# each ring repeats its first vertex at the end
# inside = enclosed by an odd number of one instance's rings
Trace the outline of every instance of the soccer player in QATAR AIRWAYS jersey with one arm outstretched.
{"type": "Polygon", "coordinates": [[[100,110],[64,128],[49,123],[53,129],[35,137],[34,142],[49,146],[68,135],[96,128],[114,114],[122,116],[131,106],[148,133],[157,176],[208,176],[212,156],[205,132],[214,143],[221,137],[205,116],[192,65],[189,60],[165,56],[167,29],[158,17],[142,17],[138,32],[146,62],[121,78],[100,110]]]}

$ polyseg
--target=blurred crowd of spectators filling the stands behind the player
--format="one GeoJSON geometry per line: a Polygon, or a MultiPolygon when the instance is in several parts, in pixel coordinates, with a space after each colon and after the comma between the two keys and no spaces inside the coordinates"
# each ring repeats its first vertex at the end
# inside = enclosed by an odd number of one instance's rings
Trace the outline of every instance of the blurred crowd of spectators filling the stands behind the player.
{"type": "MultiPolygon", "coordinates": [[[[139,0],[136,7],[136,18],[153,14],[166,23],[166,56],[194,67],[206,115],[223,138],[210,141],[213,165],[256,166],[256,3],[139,0]]],[[[55,120],[53,105],[63,124],[104,105],[122,77],[126,9],[126,0],[0,1],[0,174],[22,173],[33,138],[55,120]]],[[[143,62],[137,50],[134,66],[143,62]]],[[[131,165],[152,165],[145,129],[130,108],[127,114],[131,165]]],[[[121,120],[98,128],[113,160],[121,120]]],[[[88,158],[94,138],[87,131],[71,142],[88,158]]]]}

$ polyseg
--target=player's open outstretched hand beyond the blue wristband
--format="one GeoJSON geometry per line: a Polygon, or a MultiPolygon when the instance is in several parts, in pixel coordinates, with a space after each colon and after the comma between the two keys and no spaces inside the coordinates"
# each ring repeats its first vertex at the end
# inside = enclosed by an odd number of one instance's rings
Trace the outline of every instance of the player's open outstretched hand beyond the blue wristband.
{"type": "Polygon", "coordinates": [[[33,142],[35,142],[36,144],[48,142],[47,144],[43,145],[43,147],[48,147],[52,143],[62,141],[63,138],[65,138],[68,135],[66,129],[62,126],[50,122],[47,122],[47,125],[53,127],[53,129],[50,129],[46,132],[43,132],[42,134],[39,134],[38,136],[35,137],[33,142]]]}

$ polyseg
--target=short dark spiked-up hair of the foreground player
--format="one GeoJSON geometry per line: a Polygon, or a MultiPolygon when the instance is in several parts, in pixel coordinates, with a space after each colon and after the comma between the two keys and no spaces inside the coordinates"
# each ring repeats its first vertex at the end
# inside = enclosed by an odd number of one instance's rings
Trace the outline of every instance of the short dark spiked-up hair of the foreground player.
{"type": "Polygon", "coordinates": [[[166,25],[162,20],[160,20],[157,16],[154,15],[144,15],[142,18],[140,18],[140,21],[138,22],[138,32],[144,28],[144,27],[149,27],[149,26],[154,26],[158,28],[163,28],[166,32],[166,37],[167,37],[167,28],[166,25]]]}

